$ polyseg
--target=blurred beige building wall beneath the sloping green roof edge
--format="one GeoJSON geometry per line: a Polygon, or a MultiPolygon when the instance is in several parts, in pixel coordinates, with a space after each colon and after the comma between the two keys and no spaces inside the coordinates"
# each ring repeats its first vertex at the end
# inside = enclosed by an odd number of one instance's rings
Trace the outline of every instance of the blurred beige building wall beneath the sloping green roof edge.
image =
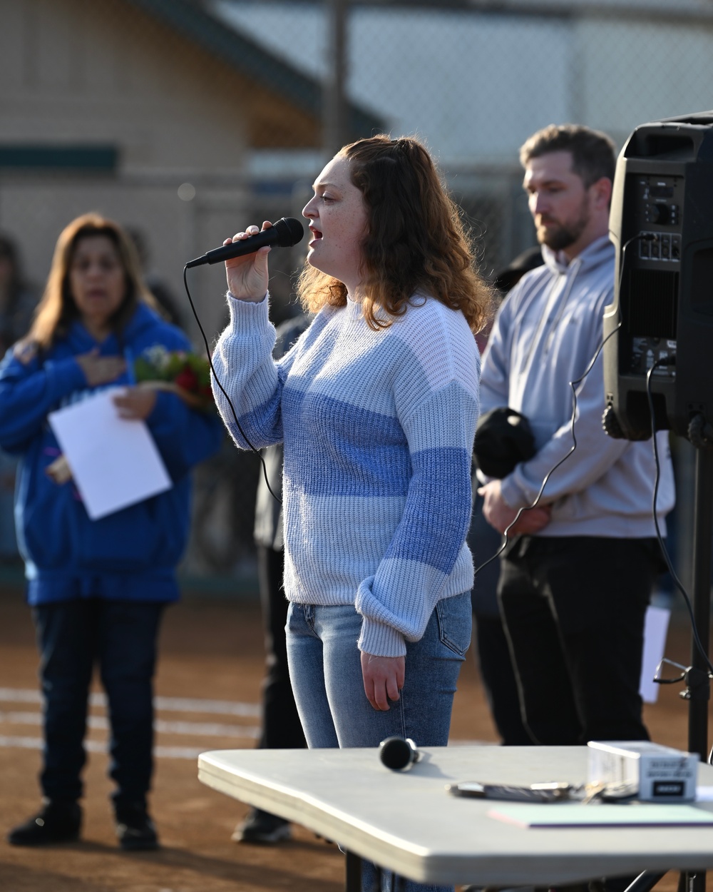
{"type": "MultiPolygon", "coordinates": [[[[0,0],[0,22],[0,145],[119,150],[113,172],[0,168],[0,230],[29,278],[44,281],[70,219],[101,211],[143,230],[192,318],[184,263],[250,222],[250,146],[309,145],[315,121],[125,0],[0,0]]],[[[212,340],[223,270],[189,275],[212,340]]]]}

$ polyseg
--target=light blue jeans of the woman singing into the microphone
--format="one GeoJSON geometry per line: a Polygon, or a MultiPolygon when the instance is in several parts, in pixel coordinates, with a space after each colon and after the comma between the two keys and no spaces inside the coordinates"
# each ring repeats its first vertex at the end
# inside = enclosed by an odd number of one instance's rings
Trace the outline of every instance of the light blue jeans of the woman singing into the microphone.
{"type": "MultiPolygon", "coordinates": [[[[471,595],[438,601],[419,641],[406,642],[406,682],[388,712],[364,692],[356,641],[362,618],[352,605],[291,604],[287,657],[299,718],[309,747],[378,747],[392,735],[420,747],[445,747],[455,684],[471,643],[471,595]]],[[[377,758],[374,755],[374,758],[377,758]]],[[[375,869],[365,863],[363,888],[372,892],[375,869]]],[[[381,886],[390,892],[390,884],[381,886]]],[[[404,892],[448,892],[407,880],[404,892]]]]}

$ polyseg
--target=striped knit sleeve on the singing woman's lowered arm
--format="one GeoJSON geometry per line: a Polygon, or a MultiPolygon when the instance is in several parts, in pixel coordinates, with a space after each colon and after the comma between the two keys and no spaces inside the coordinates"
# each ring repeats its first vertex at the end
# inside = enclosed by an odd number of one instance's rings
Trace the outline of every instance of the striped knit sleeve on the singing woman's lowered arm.
{"type": "MultiPolygon", "coordinates": [[[[454,320],[450,320],[453,323],[454,320]]],[[[446,586],[468,591],[472,561],[464,545],[471,516],[471,450],[478,419],[479,355],[470,332],[452,343],[438,332],[424,363],[423,389],[413,363],[397,383],[397,413],[412,475],[400,522],[376,573],[361,582],[356,609],[364,617],[358,647],[381,657],[406,653],[419,640],[446,586]],[[454,358],[454,351],[463,355],[454,358]],[[455,578],[457,577],[457,578],[455,578]]]]}

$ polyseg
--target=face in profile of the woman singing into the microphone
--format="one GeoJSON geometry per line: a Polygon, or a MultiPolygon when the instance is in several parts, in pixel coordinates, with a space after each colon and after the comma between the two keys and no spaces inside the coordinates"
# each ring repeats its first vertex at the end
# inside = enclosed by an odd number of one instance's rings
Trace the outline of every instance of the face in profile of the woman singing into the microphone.
{"type": "Polygon", "coordinates": [[[354,295],[362,278],[367,213],[364,195],[351,181],[350,162],[332,158],[316,178],[314,189],[314,197],[302,211],[312,234],[307,263],[339,279],[354,295]]]}

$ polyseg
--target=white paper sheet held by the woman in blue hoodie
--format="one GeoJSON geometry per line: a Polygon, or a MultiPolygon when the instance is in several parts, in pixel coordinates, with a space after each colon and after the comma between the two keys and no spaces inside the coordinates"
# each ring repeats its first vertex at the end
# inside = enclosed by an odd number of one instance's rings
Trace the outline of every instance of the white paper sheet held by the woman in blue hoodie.
{"type": "Polygon", "coordinates": [[[172,485],[143,421],[119,417],[112,397],[120,390],[102,391],[48,416],[92,520],[172,485]]]}

